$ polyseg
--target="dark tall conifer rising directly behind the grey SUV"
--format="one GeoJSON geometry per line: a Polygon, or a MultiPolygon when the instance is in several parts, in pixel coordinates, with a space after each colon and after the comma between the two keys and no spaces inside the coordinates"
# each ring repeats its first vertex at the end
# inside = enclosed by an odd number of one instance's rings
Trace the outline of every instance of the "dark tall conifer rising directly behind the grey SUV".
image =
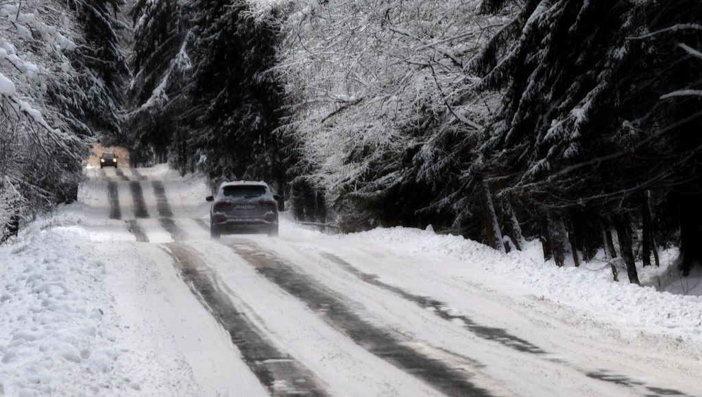
{"type": "MultiPolygon", "coordinates": [[[[190,85],[194,143],[213,176],[285,183],[277,134],[282,86],[275,65],[279,27],[246,1],[194,3],[190,85]]],[[[275,12],[273,9],[272,12],[275,12]]]]}

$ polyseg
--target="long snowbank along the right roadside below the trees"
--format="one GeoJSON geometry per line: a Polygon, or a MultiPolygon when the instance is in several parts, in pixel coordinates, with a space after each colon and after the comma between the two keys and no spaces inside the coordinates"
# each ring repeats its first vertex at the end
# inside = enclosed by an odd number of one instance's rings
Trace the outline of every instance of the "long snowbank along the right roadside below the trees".
{"type": "MultiPolygon", "coordinates": [[[[321,233],[296,229],[296,233],[322,237],[321,233]]],[[[702,337],[702,297],[658,292],[653,287],[637,287],[626,281],[615,283],[609,266],[558,268],[553,263],[543,263],[538,245],[531,244],[524,252],[505,256],[461,236],[437,235],[414,228],[376,228],[327,238],[384,245],[409,254],[447,256],[465,262],[467,275],[471,267],[482,268],[505,280],[527,285],[534,289],[534,294],[560,304],[579,306],[598,315],[607,313],[623,329],[644,327],[702,337]]],[[[620,278],[625,279],[626,274],[620,274],[620,278]]]]}

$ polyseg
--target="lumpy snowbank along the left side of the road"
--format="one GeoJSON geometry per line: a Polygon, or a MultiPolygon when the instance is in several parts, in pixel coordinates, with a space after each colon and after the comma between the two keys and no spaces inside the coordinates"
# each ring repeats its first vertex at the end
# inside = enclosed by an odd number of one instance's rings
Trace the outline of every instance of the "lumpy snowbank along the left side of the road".
{"type": "Polygon", "coordinates": [[[35,222],[0,248],[0,395],[135,387],[119,377],[105,266],[77,254],[79,238],[35,222]]]}

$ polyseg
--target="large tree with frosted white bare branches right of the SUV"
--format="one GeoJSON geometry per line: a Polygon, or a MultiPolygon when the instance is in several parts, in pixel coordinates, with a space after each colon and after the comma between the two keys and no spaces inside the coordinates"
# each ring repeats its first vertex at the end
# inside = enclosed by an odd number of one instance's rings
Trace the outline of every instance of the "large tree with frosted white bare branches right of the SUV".
{"type": "Polygon", "coordinates": [[[296,105],[300,168],[349,228],[482,234],[463,171],[498,95],[475,95],[467,66],[510,11],[478,15],[477,5],[310,1],[290,18],[279,70],[296,105]]]}

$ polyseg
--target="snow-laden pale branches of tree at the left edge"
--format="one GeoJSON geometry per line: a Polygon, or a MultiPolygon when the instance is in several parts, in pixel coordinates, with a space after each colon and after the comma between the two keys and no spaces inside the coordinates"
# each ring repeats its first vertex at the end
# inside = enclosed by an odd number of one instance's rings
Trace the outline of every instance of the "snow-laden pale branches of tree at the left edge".
{"type": "Polygon", "coordinates": [[[98,59],[74,5],[0,4],[2,239],[20,217],[75,200],[93,128],[105,119],[91,108],[105,81],[86,66],[98,59]]]}

